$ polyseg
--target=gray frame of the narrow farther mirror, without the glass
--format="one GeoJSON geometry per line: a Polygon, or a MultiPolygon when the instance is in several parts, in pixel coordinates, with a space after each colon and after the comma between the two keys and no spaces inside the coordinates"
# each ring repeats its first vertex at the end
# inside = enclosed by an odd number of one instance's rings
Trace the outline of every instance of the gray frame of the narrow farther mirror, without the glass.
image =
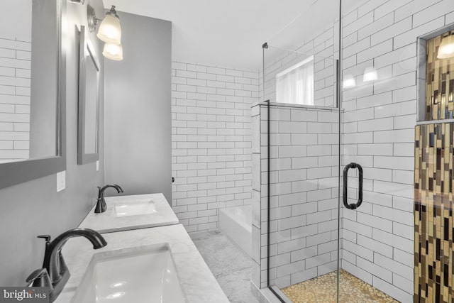
{"type": "MultiPolygon", "coordinates": [[[[101,65],[94,53],[94,45],[89,40],[89,35],[85,31],[85,26],[80,27],[79,33],[79,105],[78,105],[78,123],[77,123],[77,164],[87,164],[99,160],[99,72],[101,65]],[[86,100],[86,71],[87,71],[87,55],[92,60],[94,67],[97,70],[96,74],[96,153],[85,153],[85,106],[86,100]]],[[[88,59],[88,60],[90,60],[88,59]]]]}

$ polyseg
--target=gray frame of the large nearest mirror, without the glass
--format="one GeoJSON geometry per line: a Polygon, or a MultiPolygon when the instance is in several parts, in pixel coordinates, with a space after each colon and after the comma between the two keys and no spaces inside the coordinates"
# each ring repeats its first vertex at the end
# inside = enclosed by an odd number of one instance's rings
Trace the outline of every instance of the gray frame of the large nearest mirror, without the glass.
{"type": "Polygon", "coordinates": [[[57,142],[55,156],[0,163],[0,189],[66,170],[66,53],[62,46],[64,0],[57,6],[57,142]]]}

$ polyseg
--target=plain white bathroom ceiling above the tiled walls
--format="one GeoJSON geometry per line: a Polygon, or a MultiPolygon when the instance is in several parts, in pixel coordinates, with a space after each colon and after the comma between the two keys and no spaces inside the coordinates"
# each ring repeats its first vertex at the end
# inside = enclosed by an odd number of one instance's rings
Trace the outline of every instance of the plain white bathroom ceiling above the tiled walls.
{"type": "Polygon", "coordinates": [[[259,70],[263,43],[289,48],[290,41],[304,40],[336,18],[333,2],[104,0],[104,7],[172,21],[172,60],[259,70]]]}

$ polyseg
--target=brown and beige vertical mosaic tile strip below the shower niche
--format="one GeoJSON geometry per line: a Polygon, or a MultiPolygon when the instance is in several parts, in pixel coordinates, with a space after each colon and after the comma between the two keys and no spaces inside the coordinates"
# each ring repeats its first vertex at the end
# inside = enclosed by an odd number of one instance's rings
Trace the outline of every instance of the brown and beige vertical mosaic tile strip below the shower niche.
{"type": "Polygon", "coordinates": [[[415,128],[415,303],[453,302],[453,126],[415,128]]]}

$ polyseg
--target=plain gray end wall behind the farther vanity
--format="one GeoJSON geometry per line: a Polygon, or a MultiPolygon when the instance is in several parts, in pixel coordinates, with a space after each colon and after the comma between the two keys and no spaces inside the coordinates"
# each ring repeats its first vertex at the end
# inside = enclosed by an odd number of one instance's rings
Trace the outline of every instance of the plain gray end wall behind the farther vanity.
{"type": "MultiPolygon", "coordinates": [[[[106,182],[172,201],[172,23],[119,13],[123,61],[106,64],[106,182]]],[[[107,194],[116,194],[106,192],[107,194]]]]}

